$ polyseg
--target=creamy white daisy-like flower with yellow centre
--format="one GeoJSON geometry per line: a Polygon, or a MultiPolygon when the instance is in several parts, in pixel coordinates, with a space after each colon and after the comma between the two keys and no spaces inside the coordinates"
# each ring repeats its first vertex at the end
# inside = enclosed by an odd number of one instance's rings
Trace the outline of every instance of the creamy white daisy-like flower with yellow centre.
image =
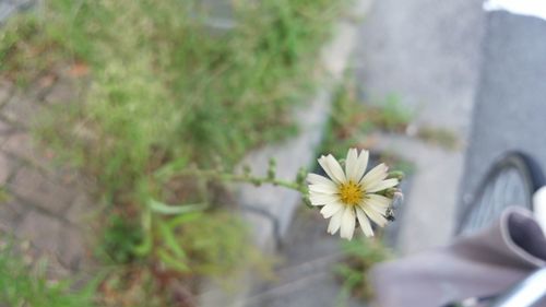
{"type": "Polygon", "coordinates": [[[331,219],[328,233],[332,235],[341,228],[341,237],[351,240],[358,221],[364,234],[370,237],[373,231],[369,220],[379,226],[387,224],[384,216],[392,199],[378,192],[395,187],[399,180],[385,179],[388,167],[384,164],[366,174],[368,156],[368,151],[358,154],[356,149],[351,149],[345,172],[331,154],[321,156],[319,164],[330,179],[317,174],[307,176],[311,204],[323,205],[320,213],[324,219],[331,219]]]}

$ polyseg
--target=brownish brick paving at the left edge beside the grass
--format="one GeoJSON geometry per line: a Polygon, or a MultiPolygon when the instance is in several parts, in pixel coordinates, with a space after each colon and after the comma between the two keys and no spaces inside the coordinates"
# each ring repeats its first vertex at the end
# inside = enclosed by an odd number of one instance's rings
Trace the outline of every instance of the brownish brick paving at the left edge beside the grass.
{"type": "Polygon", "coordinates": [[[0,229],[78,271],[90,252],[84,229],[91,185],[56,165],[31,129],[48,106],[74,98],[70,82],[63,72],[43,75],[25,91],[0,81],[0,229]]]}

